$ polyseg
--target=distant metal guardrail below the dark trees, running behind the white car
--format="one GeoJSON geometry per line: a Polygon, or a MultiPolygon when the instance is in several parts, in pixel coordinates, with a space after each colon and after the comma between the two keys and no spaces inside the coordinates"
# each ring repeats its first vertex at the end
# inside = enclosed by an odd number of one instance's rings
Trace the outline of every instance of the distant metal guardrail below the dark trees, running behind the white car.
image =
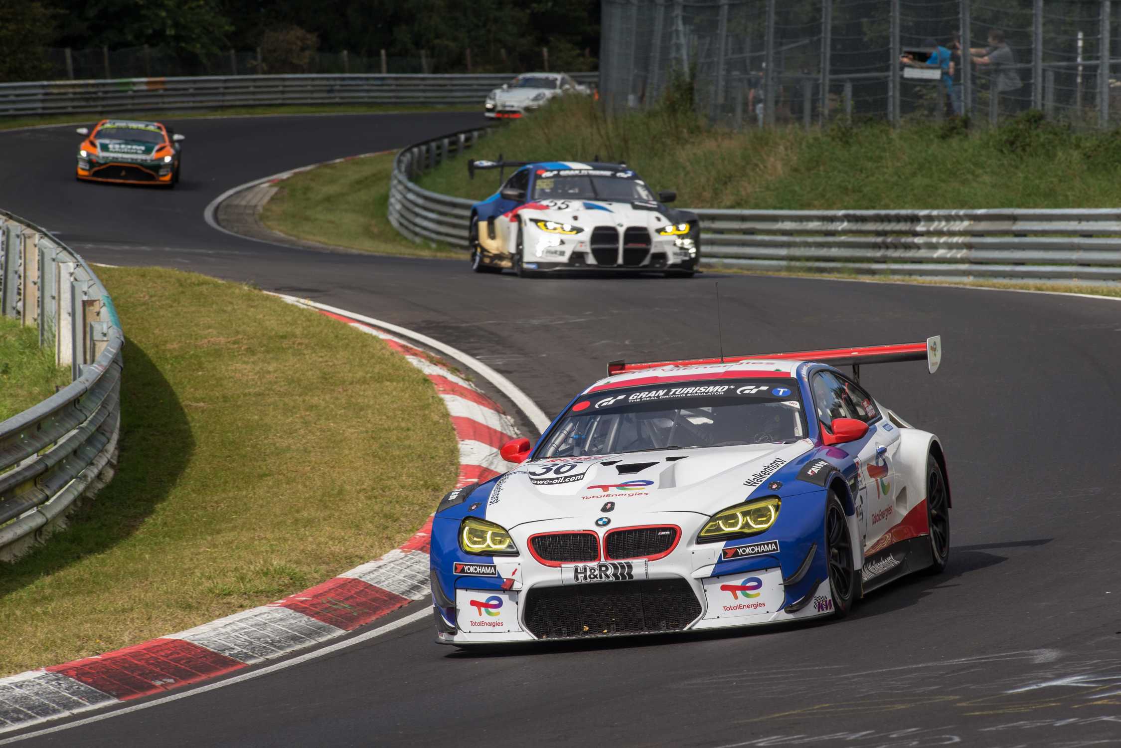
{"type": "MultiPolygon", "coordinates": [[[[210,75],[0,83],[0,117],[275,104],[478,104],[512,73],[489,75],[210,75]]],[[[574,73],[595,83],[597,73],[574,73]]]]}

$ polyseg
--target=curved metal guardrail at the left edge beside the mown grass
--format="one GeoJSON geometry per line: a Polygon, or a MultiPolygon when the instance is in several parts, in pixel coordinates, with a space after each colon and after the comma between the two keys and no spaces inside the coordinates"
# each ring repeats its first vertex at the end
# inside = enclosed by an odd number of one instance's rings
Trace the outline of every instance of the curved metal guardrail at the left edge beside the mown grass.
{"type": "Polygon", "coordinates": [[[0,422],[0,560],[41,541],[108,482],[120,432],[121,332],[90,266],[39,227],[0,211],[0,314],[39,330],[73,381],[0,422]]]}

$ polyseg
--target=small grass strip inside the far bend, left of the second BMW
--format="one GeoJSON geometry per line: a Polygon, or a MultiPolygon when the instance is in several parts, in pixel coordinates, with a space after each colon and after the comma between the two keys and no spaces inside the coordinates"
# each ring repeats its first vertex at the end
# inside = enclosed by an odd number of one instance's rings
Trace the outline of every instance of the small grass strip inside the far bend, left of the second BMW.
{"type": "Polygon", "coordinates": [[[393,154],[379,154],[295,174],[278,183],[261,222],[282,234],[334,247],[465,259],[463,250],[414,243],[389,223],[392,168],[393,154]]]}

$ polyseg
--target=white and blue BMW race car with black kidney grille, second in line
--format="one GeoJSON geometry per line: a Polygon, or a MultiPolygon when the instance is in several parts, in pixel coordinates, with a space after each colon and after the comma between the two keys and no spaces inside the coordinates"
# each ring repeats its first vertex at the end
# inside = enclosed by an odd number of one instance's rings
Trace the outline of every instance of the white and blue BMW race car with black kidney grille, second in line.
{"type": "MultiPolygon", "coordinates": [[[[692,276],[701,261],[695,213],[667,207],[674,192],[650,191],[626,164],[471,160],[467,170],[517,170],[471,207],[471,268],[628,270],[692,276]]],[[[500,172],[501,174],[501,172],[500,172]]]]}

